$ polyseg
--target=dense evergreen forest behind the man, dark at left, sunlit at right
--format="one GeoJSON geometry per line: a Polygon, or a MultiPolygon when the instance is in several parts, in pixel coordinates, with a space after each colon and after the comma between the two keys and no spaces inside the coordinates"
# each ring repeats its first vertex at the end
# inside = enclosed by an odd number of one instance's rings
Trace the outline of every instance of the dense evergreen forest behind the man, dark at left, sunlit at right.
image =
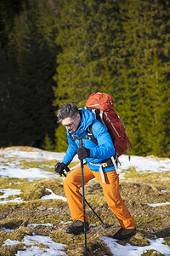
{"type": "Polygon", "coordinates": [[[132,154],[170,157],[170,2],[1,0],[0,147],[65,151],[56,109],[110,94],[132,154]]]}

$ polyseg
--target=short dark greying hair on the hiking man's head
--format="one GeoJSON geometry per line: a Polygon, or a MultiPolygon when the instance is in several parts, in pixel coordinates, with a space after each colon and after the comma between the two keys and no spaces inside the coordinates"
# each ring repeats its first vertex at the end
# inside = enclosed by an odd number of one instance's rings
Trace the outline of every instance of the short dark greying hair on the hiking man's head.
{"type": "Polygon", "coordinates": [[[75,119],[79,113],[78,108],[73,103],[63,104],[57,112],[58,122],[60,123],[63,119],[70,117],[75,119]]]}

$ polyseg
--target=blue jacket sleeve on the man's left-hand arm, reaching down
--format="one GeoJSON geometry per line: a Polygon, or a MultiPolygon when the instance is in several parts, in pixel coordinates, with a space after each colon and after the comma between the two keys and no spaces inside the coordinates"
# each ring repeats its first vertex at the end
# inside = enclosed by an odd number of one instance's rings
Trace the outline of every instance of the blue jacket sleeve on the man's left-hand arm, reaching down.
{"type": "Polygon", "coordinates": [[[66,150],[66,153],[65,153],[65,157],[63,159],[63,163],[65,163],[65,165],[68,165],[71,163],[71,160],[73,160],[74,156],[77,154],[77,144],[74,143],[68,133],[67,132],[67,138],[68,138],[68,143],[69,143],[69,146],[66,150]]]}

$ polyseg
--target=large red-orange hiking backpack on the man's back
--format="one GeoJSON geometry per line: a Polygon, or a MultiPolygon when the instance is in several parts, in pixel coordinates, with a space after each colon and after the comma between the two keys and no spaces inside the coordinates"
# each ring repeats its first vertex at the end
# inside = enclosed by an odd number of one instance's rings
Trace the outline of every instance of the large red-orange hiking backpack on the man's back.
{"type": "MultiPolygon", "coordinates": [[[[85,108],[94,112],[95,118],[105,125],[106,130],[111,135],[118,156],[124,154],[128,146],[129,149],[132,148],[119,116],[114,111],[114,103],[110,95],[94,92],[88,97],[85,108]]],[[[88,137],[94,143],[97,143],[92,132],[92,125],[88,128],[88,137]]]]}

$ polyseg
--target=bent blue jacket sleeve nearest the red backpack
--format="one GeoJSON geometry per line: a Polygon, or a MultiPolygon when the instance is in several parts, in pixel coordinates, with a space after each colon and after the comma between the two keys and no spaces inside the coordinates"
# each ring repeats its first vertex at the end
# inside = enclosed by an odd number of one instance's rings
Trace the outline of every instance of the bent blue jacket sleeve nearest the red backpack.
{"type": "Polygon", "coordinates": [[[115,148],[111,140],[111,136],[106,131],[105,126],[98,120],[94,121],[92,126],[94,137],[98,141],[98,145],[94,148],[90,148],[90,157],[93,158],[110,158],[115,154],[115,148]]]}

